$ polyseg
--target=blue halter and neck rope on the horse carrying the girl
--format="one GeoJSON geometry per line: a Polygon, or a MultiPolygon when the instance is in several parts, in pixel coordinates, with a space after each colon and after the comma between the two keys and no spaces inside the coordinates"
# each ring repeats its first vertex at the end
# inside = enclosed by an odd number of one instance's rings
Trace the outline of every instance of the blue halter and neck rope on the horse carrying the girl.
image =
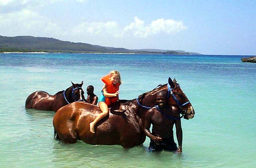
{"type": "MultiPolygon", "coordinates": [[[[180,87],[178,84],[176,85],[176,87],[180,87]]],[[[188,103],[190,103],[190,101],[187,101],[183,104],[181,104],[180,101],[178,101],[177,97],[173,94],[173,90],[174,88],[171,88],[171,86],[169,85],[169,83],[167,83],[167,89],[168,89],[168,93],[167,93],[167,98],[169,99],[170,98],[170,95],[172,95],[174,101],[177,103],[178,105],[178,108],[180,109],[180,114],[182,115],[180,118],[182,118],[186,113],[187,113],[187,110],[184,110],[182,109],[183,106],[187,105],[188,103]]],[[[148,106],[143,106],[142,104],[140,104],[139,102],[139,98],[136,99],[137,103],[139,106],[145,108],[145,109],[151,109],[151,107],[148,107],[148,106]]],[[[159,107],[157,106],[157,109],[159,110],[159,107]]],[[[161,111],[160,111],[161,112],[161,111]]],[[[175,118],[176,119],[176,118],[175,118]]]]}

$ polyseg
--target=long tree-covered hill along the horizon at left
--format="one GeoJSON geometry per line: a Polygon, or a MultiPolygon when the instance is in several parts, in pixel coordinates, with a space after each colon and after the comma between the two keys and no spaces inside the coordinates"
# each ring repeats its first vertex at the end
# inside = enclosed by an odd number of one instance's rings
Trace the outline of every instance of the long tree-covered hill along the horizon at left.
{"type": "Polygon", "coordinates": [[[0,36],[0,52],[89,52],[89,53],[140,53],[140,54],[190,54],[178,51],[129,50],[103,47],[87,43],[74,43],[54,38],[33,36],[0,36]]]}

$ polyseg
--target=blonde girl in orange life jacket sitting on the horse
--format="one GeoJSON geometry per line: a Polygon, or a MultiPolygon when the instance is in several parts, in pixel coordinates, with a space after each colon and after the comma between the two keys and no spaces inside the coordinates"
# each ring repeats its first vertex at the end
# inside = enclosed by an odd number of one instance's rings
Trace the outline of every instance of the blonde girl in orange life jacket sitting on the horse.
{"type": "Polygon", "coordinates": [[[99,108],[102,113],[100,113],[93,122],[90,123],[90,132],[95,133],[95,125],[102,118],[109,114],[108,106],[117,102],[119,94],[119,86],[121,85],[120,73],[116,70],[111,71],[108,75],[101,78],[104,82],[101,95],[99,97],[99,108]]]}

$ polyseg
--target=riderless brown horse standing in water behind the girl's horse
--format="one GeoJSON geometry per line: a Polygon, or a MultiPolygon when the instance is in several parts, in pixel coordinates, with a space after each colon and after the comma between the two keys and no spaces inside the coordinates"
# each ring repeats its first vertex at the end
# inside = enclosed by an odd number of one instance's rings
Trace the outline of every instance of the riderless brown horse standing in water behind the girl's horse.
{"type": "Polygon", "coordinates": [[[34,93],[31,93],[26,99],[26,109],[57,112],[57,110],[69,103],[86,101],[82,89],[83,81],[80,84],[71,83],[72,86],[68,87],[66,90],[59,91],[54,95],[49,95],[49,93],[45,91],[35,91],[34,93]]]}

